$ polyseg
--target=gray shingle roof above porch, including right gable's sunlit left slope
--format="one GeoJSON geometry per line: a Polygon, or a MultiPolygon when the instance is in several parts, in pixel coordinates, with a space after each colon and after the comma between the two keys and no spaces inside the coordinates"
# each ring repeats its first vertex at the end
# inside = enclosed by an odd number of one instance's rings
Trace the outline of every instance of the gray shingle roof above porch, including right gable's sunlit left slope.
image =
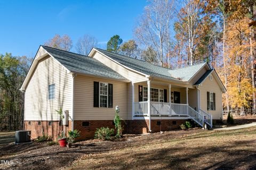
{"type": "Polygon", "coordinates": [[[111,53],[100,48],[95,49],[99,50],[99,52],[107,55],[108,57],[119,62],[120,64],[130,67],[133,70],[137,70],[147,75],[169,80],[181,80],[185,82],[189,81],[205,65],[205,63],[201,63],[193,66],[184,67],[182,69],[171,70],[128,56],[111,53]]]}

